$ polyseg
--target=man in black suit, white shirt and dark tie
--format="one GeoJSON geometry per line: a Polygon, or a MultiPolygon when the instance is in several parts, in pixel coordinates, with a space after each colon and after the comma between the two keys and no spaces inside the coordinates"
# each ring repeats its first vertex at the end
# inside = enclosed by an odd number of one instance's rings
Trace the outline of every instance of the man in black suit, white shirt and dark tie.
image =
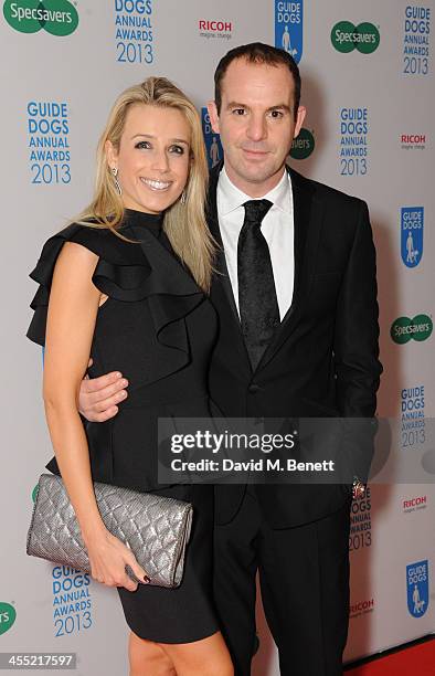
{"type": "MultiPolygon", "coordinates": [[[[381,366],[368,210],[286,168],[305,118],[299,97],[298,67],[283,50],[244,45],[216,68],[209,113],[224,163],[211,173],[208,218],[223,251],[210,392],[225,416],[370,418],[381,366]]],[[[121,382],[84,383],[85,415],[114,414],[121,382]]],[[[257,570],[282,674],[341,674],[350,488],[222,485],[215,494],[215,601],[236,674],[250,674],[255,652],[257,570]]]]}

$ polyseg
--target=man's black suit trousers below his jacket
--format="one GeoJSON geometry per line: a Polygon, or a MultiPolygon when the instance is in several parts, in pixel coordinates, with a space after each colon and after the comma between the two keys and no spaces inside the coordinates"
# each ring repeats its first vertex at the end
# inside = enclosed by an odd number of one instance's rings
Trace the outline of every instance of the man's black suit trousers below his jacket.
{"type": "Polygon", "coordinates": [[[255,652],[258,570],[283,676],[340,676],[349,619],[350,501],[323,519],[282,530],[250,487],[234,519],[215,526],[214,598],[237,676],[255,652]]]}

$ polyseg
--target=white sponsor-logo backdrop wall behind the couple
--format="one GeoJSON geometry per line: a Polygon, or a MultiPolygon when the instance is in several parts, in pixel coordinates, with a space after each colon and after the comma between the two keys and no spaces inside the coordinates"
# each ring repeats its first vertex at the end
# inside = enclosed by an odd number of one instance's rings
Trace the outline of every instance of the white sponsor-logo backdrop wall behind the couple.
{"type": "MultiPolygon", "coordinates": [[[[379,415],[394,419],[380,425],[375,462],[412,466],[434,448],[434,14],[431,0],[2,0],[0,652],[75,652],[82,676],[127,673],[116,591],[25,554],[52,452],[42,357],[24,334],[41,245],[88,202],[116,95],[150,74],[193,98],[213,166],[222,147],[205,105],[220,57],[256,40],[294,55],[308,115],[289,162],[370,207],[385,369],[379,415]]],[[[417,475],[393,482],[381,472],[352,505],[347,661],[435,632],[435,488],[431,474],[417,475]]],[[[254,673],[275,676],[261,605],[258,633],[254,673]]]]}

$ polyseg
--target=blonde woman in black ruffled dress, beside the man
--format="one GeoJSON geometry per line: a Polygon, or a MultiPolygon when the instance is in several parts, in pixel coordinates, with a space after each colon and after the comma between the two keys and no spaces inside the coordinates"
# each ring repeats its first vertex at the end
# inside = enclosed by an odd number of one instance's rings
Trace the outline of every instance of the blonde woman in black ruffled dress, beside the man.
{"type": "Polygon", "coordinates": [[[88,550],[92,575],[117,585],[130,675],[225,676],[231,659],[211,600],[213,488],[157,483],[157,419],[208,416],[206,366],[216,319],[206,298],[213,243],[205,225],[206,160],[192,103],[166,78],[124,92],[97,154],[96,194],[79,223],[51,237],[29,337],[45,345],[44,402],[55,458],[88,550]],[[182,262],[182,264],[180,263],[182,262]],[[121,368],[128,401],[83,429],[79,383],[121,368]],[[93,480],[193,504],[184,577],[147,587],[146,571],[105,528],[93,480]],[[144,584],[126,573],[129,564],[144,584]]]}

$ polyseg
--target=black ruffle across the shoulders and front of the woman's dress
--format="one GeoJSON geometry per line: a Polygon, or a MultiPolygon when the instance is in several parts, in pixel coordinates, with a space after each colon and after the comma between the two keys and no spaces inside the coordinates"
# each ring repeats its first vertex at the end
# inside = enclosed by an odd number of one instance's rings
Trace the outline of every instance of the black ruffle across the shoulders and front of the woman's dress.
{"type": "MultiPolygon", "coordinates": [[[[99,256],[92,281],[109,298],[125,303],[148,300],[165,359],[152,365],[149,381],[174,372],[189,362],[184,318],[204,299],[203,292],[176,256],[146,226],[123,228],[135,242],[110,231],[72,224],[50,237],[30,277],[40,284],[31,303],[34,310],[28,338],[44,346],[46,316],[54,266],[65,242],[75,242],[99,256]]],[[[138,356],[140,358],[140,356],[138,356]]]]}

